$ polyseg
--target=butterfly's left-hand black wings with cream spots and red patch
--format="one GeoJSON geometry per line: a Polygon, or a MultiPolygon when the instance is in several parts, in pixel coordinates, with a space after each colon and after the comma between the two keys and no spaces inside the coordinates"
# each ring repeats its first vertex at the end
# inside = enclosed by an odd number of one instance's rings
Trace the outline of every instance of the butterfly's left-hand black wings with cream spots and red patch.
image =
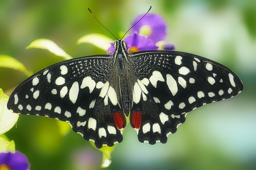
{"type": "Polygon", "coordinates": [[[24,80],[11,94],[7,107],[14,113],[66,121],[96,147],[113,146],[122,141],[120,129],[126,122],[112,88],[118,80],[110,80],[112,65],[112,55],[53,64],[24,80]]]}

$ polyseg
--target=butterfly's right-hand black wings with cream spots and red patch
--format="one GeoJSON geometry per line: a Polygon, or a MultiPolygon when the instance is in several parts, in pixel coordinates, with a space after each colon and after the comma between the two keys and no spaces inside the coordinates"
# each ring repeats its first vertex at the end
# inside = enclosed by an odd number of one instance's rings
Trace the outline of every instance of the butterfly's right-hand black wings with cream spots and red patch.
{"type": "Polygon", "coordinates": [[[204,104],[236,96],[238,76],[212,60],[178,51],[130,53],[134,85],[131,126],[140,142],[166,143],[186,114],[204,104]]]}

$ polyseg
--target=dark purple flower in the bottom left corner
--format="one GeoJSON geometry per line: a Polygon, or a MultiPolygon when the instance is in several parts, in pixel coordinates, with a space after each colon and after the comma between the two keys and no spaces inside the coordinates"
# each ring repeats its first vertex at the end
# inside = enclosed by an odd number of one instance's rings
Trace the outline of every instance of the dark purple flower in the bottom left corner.
{"type": "Polygon", "coordinates": [[[26,156],[20,152],[0,153],[0,170],[28,170],[26,156]]]}

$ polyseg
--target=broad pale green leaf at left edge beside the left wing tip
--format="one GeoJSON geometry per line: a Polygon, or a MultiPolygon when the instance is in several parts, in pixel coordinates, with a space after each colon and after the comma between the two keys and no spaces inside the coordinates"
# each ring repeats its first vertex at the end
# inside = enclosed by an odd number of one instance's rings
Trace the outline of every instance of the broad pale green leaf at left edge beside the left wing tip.
{"type": "Polygon", "coordinates": [[[19,115],[7,109],[9,96],[0,88],[0,134],[6,133],[18,121],[19,115]]]}

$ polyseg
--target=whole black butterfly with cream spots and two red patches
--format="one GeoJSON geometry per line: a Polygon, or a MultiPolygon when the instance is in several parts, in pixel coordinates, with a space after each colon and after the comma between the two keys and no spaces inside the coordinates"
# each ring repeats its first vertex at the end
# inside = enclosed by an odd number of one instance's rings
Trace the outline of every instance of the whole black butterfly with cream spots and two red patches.
{"type": "Polygon", "coordinates": [[[226,66],[178,51],[126,51],[62,61],[40,70],[11,94],[8,109],[70,123],[97,148],[123,140],[126,119],[142,143],[166,143],[189,111],[243,90],[226,66]]]}

